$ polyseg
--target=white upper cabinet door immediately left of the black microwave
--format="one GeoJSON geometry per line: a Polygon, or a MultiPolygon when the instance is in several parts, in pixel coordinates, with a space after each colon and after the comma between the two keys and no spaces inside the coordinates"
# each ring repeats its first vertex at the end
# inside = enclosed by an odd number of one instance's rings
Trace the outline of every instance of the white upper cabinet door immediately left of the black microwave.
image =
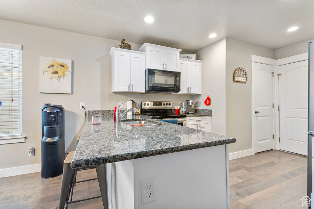
{"type": "Polygon", "coordinates": [[[145,92],[145,55],[131,53],[131,89],[145,92]]]}

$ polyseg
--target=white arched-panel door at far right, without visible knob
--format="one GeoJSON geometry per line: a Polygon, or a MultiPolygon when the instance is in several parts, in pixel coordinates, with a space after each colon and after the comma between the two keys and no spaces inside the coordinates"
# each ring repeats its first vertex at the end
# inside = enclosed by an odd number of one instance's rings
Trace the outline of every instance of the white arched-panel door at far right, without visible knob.
{"type": "Polygon", "coordinates": [[[280,149],[307,155],[308,61],[279,66],[280,149]]]}

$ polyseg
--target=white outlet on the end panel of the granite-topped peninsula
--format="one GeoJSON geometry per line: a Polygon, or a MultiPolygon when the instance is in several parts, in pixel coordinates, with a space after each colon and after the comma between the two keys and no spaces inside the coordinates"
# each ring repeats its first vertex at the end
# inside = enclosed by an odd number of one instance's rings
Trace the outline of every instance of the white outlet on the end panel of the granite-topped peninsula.
{"type": "Polygon", "coordinates": [[[142,205],[156,201],[156,177],[141,180],[142,205]]]}

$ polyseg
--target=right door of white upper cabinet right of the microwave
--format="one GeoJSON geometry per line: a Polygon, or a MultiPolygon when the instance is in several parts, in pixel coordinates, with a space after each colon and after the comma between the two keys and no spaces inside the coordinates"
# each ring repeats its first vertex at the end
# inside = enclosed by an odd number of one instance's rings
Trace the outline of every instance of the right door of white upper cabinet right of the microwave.
{"type": "Polygon", "coordinates": [[[201,87],[201,65],[200,63],[189,62],[189,87],[191,94],[200,94],[201,87]]]}

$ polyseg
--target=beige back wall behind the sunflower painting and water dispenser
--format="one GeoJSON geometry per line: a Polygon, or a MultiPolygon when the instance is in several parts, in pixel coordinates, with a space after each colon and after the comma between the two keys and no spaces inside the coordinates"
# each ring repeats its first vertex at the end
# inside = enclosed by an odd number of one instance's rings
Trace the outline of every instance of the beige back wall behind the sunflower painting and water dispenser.
{"type": "MultiPolygon", "coordinates": [[[[62,30],[0,20],[0,42],[22,44],[23,49],[23,135],[25,143],[0,145],[0,169],[41,163],[41,107],[44,103],[61,104],[66,109],[66,151],[75,149],[75,139],[84,124],[87,110],[111,110],[119,102],[142,100],[172,101],[174,105],[190,95],[143,95],[111,93],[111,47],[120,40],[104,39],[62,30]],[[39,92],[39,56],[73,60],[73,94],[39,92]],[[28,147],[35,147],[35,156],[28,157],[28,147]],[[9,160],[3,160],[9,159],[9,160]]],[[[132,44],[138,50],[139,44],[132,44]]]]}

